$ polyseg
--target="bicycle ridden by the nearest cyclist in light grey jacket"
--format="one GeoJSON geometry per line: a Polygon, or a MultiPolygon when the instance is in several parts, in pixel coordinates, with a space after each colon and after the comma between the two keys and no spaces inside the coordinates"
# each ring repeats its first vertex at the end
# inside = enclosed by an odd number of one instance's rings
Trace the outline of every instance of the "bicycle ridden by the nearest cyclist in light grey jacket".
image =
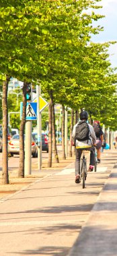
{"type": "Polygon", "coordinates": [[[81,158],[81,171],[80,171],[80,179],[83,179],[83,189],[85,188],[86,177],[87,177],[87,158],[85,158],[85,150],[83,150],[82,158],[81,158]]]}

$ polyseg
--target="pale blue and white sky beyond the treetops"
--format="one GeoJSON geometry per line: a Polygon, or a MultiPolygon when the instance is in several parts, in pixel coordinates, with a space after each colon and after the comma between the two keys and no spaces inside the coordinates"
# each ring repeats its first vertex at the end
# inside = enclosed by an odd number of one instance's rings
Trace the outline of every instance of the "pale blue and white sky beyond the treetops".
{"type": "MultiPolygon", "coordinates": [[[[98,9],[98,13],[105,15],[105,18],[100,19],[95,23],[104,27],[104,31],[92,37],[93,42],[108,42],[117,41],[117,0],[102,0],[99,2],[102,9],[98,9]]],[[[110,62],[112,67],[117,67],[117,44],[113,44],[109,49],[110,62]]]]}

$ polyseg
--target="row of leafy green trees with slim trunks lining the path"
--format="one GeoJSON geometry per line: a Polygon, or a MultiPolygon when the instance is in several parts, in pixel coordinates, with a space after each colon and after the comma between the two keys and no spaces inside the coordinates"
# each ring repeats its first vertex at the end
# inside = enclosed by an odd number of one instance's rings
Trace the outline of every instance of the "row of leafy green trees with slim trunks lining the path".
{"type": "MultiPolygon", "coordinates": [[[[95,14],[100,0],[1,0],[0,78],[3,84],[3,183],[8,183],[7,87],[11,77],[24,82],[23,115],[20,124],[19,177],[24,177],[24,127],[28,82],[41,84],[48,100],[49,156],[58,161],[55,140],[54,104],[64,112],[85,108],[91,118],[116,129],[116,73],[108,60],[108,47],[114,42],[96,44],[91,34],[103,30],[93,26],[103,18],[95,14]],[[94,23],[95,24],[95,23],[94,23]],[[6,161],[5,161],[6,159],[6,161]]],[[[65,152],[63,154],[65,157],[65,152]]]]}

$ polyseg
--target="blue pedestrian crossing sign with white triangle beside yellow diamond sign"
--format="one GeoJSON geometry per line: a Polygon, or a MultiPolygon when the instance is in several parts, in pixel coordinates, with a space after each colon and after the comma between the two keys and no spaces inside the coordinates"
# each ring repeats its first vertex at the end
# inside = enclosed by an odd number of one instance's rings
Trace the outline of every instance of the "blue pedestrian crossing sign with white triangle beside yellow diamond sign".
{"type": "MultiPolygon", "coordinates": [[[[20,119],[22,119],[23,112],[23,102],[20,102],[20,119]]],[[[37,103],[27,102],[26,104],[26,120],[36,120],[37,119],[37,103]]]]}

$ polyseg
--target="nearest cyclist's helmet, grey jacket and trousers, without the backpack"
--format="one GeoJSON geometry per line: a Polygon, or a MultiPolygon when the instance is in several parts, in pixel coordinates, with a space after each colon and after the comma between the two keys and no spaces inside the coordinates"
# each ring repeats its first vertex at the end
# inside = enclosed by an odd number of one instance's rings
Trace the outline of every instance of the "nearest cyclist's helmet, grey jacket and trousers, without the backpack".
{"type": "MultiPolygon", "coordinates": [[[[75,132],[76,132],[76,127],[79,125],[80,122],[83,123],[87,122],[88,119],[88,113],[87,111],[83,110],[80,115],[80,120],[76,125],[73,127],[73,141],[75,140],[75,132]]],[[[89,139],[86,139],[85,141],[78,141],[77,139],[75,140],[75,183],[80,183],[80,159],[81,159],[81,154],[83,150],[89,150],[90,151],[90,163],[89,163],[89,172],[93,171],[93,166],[95,165],[95,148],[94,144],[96,141],[95,137],[95,132],[93,130],[93,127],[89,125],[89,139]]]]}

